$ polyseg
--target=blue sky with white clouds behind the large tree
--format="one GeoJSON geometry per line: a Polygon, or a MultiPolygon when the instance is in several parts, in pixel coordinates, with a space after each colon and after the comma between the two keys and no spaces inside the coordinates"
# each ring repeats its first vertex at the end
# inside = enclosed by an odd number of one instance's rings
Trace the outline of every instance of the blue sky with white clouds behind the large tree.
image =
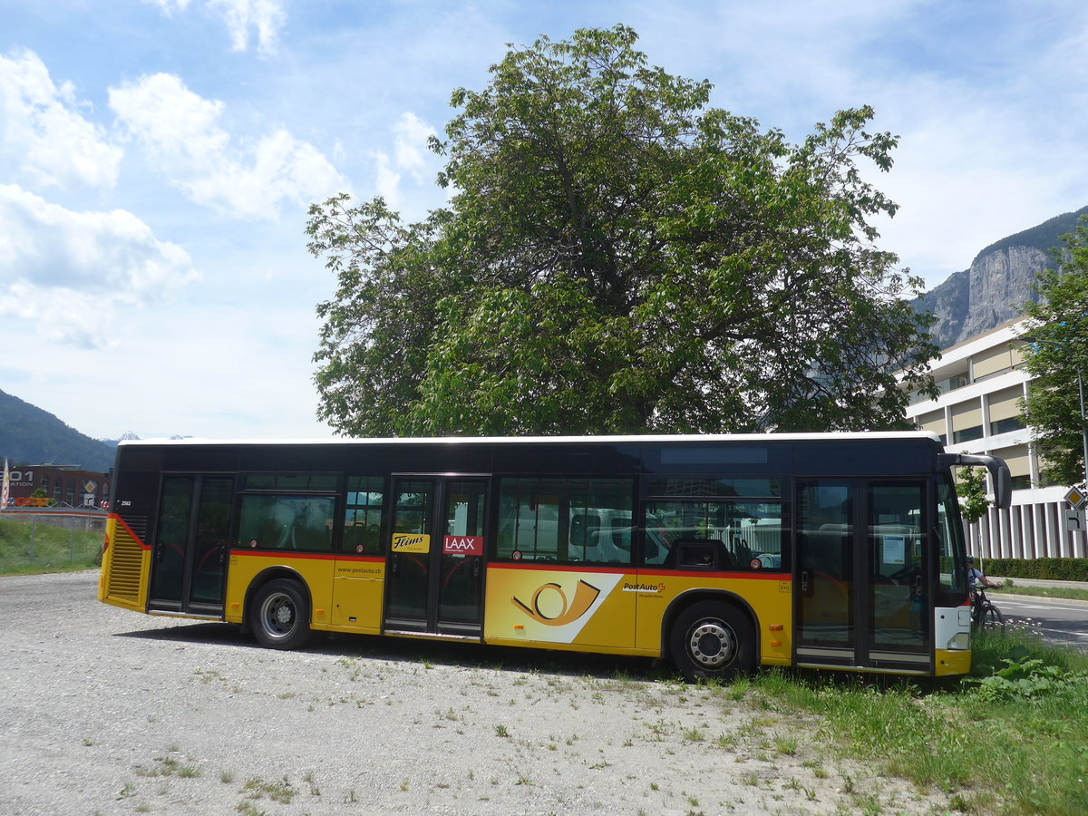
{"type": "Polygon", "coordinates": [[[329,435],[307,205],[441,206],[450,91],[620,22],[792,140],[874,106],[880,246],[930,285],[1088,203],[1084,0],[0,0],[0,390],[98,437],[329,435]]]}

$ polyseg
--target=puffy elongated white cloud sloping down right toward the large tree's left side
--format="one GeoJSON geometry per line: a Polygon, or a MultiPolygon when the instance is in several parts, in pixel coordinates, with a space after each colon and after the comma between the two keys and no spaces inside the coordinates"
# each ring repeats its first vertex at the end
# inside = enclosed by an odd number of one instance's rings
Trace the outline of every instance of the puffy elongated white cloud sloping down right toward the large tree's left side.
{"type": "Polygon", "coordinates": [[[305,205],[347,187],[317,148],[284,128],[235,146],[218,124],[223,102],[172,74],[110,88],[110,108],[172,184],[226,214],[274,220],[285,199],[305,205]]]}

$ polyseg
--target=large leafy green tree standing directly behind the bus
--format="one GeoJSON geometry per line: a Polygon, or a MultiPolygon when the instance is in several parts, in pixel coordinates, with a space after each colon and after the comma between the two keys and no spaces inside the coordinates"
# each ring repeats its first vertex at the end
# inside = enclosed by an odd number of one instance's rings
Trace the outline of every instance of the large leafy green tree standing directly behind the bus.
{"type": "Polygon", "coordinates": [[[453,94],[448,206],[310,210],[338,277],[321,416],[355,435],[876,429],[937,349],[874,242],[868,108],[804,141],[708,107],[630,28],[510,47],[453,94]]]}

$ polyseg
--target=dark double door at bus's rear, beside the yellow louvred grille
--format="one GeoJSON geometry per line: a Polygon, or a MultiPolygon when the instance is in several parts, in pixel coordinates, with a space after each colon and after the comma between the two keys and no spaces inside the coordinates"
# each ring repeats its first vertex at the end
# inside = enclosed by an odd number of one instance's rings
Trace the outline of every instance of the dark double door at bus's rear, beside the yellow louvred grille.
{"type": "Polygon", "coordinates": [[[233,505],[232,477],[168,475],[162,480],[148,611],[223,616],[233,505]]]}

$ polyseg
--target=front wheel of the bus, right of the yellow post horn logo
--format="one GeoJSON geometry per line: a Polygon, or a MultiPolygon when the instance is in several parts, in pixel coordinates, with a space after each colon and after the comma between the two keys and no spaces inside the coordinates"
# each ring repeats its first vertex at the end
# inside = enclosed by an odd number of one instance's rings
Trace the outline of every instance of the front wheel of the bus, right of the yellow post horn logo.
{"type": "Polygon", "coordinates": [[[730,680],[755,666],[747,617],[717,601],[692,604],[672,623],[672,662],[688,680],[730,680]]]}

